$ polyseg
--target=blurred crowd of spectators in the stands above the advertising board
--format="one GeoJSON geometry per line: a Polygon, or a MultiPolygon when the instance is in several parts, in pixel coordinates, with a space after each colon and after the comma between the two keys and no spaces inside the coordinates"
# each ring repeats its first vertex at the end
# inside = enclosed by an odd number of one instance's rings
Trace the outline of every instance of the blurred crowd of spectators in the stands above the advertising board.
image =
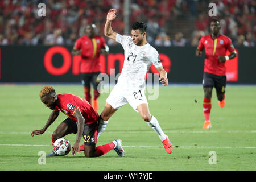
{"type": "MultiPolygon", "coordinates": [[[[146,22],[147,40],[155,46],[197,46],[201,36],[209,34],[210,19],[215,18],[208,15],[210,2],[217,5],[222,34],[236,46],[255,46],[254,0],[130,0],[130,24],[146,22]],[[182,21],[189,23],[177,23],[182,21]],[[189,27],[192,30],[184,34],[189,27]]],[[[118,10],[112,28],[123,34],[123,4],[124,0],[1,0],[0,45],[73,45],[89,23],[96,24],[97,34],[103,36],[111,8],[118,10]],[[45,17],[38,15],[39,3],[46,4],[45,17]]]]}

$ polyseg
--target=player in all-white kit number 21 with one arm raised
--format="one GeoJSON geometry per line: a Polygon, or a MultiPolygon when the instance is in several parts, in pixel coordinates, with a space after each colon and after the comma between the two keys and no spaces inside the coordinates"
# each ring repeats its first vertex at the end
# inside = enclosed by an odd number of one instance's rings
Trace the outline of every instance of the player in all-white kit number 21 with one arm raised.
{"type": "Polygon", "coordinates": [[[105,108],[100,115],[100,125],[98,127],[98,137],[105,130],[109,118],[121,106],[129,103],[139,114],[148,126],[152,127],[168,154],[172,152],[172,144],[166,134],[163,133],[158,120],[150,114],[148,103],[144,94],[144,77],[151,64],[159,72],[160,82],[163,86],[168,85],[167,73],[164,71],[159,60],[158,51],[150,46],[146,40],[146,23],[136,22],[132,26],[131,36],[122,36],[112,30],[111,22],[115,19],[117,10],[111,9],[106,18],[104,34],[120,43],[125,51],[125,60],[121,75],[114,86],[109,97],[106,99],[105,108]]]}

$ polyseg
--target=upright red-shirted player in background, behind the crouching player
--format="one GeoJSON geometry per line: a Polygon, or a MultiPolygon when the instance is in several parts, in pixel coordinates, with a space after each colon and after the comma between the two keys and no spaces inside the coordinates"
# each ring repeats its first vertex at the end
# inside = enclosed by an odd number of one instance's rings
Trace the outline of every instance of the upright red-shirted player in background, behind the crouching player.
{"type": "Polygon", "coordinates": [[[95,24],[89,24],[86,26],[86,35],[76,40],[75,46],[72,50],[72,55],[81,55],[80,73],[82,76],[82,84],[84,85],[85,99],[91,104],[90,84],[93,85],[94,97],[92,100],[92,106],[98,110],[98,100],[100,96],[100,90],[98,90],[98,84],[100,79],[98,75],[100,72],[100,53],[104,55],[108,54],[109,48],[105,43],[104,38],[96,35],[95,24]]]}

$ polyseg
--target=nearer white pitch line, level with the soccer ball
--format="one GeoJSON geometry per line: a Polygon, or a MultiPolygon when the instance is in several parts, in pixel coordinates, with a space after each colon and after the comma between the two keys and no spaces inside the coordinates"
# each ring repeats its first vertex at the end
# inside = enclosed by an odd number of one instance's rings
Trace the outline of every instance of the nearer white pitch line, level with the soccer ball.
{"type": "MultiPolygon", "coordinates": [[[[49,147],[49,144],[0,144],[0,146],[26,146],[26,147],[49,147]]],[[[162,146],[123,146],[124,148],[163,148],[162,146]]],[[[177,148],[256,148],[256,147],[226,147],[226,146],[179,146],[177,148]]]]}

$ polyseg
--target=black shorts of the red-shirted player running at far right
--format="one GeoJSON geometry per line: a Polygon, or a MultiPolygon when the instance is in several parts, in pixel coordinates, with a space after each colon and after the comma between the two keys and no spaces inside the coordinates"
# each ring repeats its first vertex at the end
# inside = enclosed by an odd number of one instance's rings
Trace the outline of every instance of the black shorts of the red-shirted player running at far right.
{"type": "Polygon", "coordinates": [[[225,93],[226,76],[219,76],[212,73],[204,72],[203,86],[211,88],[215,87],[217,93],[225,93]]]}

